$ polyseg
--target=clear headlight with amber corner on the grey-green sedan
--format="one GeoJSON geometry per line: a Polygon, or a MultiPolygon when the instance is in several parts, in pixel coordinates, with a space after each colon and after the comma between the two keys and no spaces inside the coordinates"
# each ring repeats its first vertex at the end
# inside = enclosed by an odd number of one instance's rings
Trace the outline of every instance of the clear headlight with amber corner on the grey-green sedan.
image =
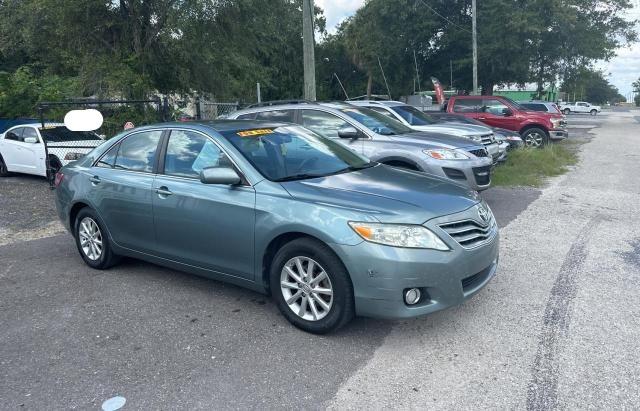
{"type": "Polygon", "coordinates": [[[449,247],[431,230],[421,225],[349,222],[360,237],[371,243],[405,248],[447,251],[449,247]]]}

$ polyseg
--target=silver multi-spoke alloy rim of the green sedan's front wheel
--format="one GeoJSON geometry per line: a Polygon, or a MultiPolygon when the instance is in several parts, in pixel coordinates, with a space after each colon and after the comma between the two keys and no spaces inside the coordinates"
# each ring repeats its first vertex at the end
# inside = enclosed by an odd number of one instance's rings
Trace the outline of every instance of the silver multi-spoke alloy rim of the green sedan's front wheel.
{"type": "Polygon", "coordinates": [[[333,305],[329,275],[309,257],[293,257],[280,273],[280,290],[289,309],[307,321],[323,319],[333,305]]]}

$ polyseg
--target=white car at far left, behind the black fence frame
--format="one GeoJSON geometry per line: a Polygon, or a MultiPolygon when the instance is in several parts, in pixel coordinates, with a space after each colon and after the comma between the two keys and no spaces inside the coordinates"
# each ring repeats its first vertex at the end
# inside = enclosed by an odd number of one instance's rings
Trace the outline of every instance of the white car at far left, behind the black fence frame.
{"type": "Polygon", "coordinates": [[[46,177],[47,152],[49,167],[55,173],[103,142],[96,133],[71,131],[64,124],[13,126],[0,135],[0,176],[15,172],[46,177]]]}

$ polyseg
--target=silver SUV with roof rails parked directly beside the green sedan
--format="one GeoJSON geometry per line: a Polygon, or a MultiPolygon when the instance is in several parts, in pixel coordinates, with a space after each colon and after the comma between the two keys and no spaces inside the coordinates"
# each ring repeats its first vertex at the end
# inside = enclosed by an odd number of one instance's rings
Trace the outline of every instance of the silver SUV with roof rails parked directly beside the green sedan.
{"type": "Polygon", "coordinates": [[[229,118],[301,124],[380,163],[438,175],[478,191],[491,185],[493,161],[482,144],[416,131],[365,107],[340,102],[267,102],[236,111],[229,118]]]}

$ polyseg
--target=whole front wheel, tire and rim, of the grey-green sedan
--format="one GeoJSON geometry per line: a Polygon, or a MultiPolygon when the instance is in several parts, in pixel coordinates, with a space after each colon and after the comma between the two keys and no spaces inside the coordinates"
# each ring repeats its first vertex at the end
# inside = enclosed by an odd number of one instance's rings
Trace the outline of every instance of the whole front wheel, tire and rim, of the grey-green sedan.
{"type": "Polygon", "coordinates": [[[284,245],[271,264],[271,293],[294,326],[326,334],[354,316],[353,286],[347,270],[323,243],[301,238],[284,245]]]}

